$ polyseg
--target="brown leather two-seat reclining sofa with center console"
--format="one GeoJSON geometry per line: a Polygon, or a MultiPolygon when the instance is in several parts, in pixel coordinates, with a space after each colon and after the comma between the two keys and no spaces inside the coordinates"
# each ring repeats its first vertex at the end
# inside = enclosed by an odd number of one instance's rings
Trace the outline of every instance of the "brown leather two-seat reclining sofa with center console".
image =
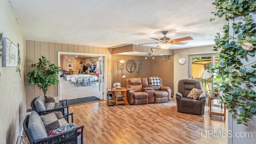
{"type": "Polygon", "coordinates": [[[126,88],[129,104],[162,103],[171,100],[171,89],[163,86],[162,78],[160,86],[152,86],[150,78],[129,78],[126,79],[126,88]]]}

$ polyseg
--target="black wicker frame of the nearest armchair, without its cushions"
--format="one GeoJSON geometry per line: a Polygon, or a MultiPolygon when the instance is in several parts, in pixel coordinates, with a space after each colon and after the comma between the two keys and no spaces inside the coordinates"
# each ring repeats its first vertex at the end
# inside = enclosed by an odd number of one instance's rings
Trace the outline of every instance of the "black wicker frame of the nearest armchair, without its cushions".
{"type": "MultiPolygon", "coordinates": [[[[78,144],[78,132],[77,130],[81,130],[81,144],[83,143],[83,128],[84,126],[80,126],[77,128],[74,128],[73,130],[69,130],[67,132],[63,132],[61,134],[56,134],[54,136],[48,136],[47,138],[42,138],[40,140],[33,140],[30,132],[28,130],[28,120],[29,116],[27,115],[24,122],[23,122],[23,128],[26,132],[26,135],[28,136],[28,140],[30,144],[78,144]]],[[[72,117],[73,122],[73,113],[64,115],[65,120],[68,121],[68,117],[72,117]]]]}

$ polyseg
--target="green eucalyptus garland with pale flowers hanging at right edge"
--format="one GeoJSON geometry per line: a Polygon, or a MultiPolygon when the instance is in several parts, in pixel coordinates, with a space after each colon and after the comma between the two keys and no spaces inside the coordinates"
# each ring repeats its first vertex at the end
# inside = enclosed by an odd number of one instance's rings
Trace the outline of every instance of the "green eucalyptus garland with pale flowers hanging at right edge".
{"type": "MultiPolygon", "coordinates": [[[[236,113],[236,105],[240,106],[237,123],[248,126],[246,123],[256,112],[256,90],[243,88],[242,84],[256,86],[256,60],[245,65],[242,59],[255,55],[256,23],[252,23],[250,14],[256,10],[256,0],[215,0],[212,4],[216,8],[216,12],[212,12],[215,17],[224,16],[228,21],[233,16],[243,16],[243,22],[232,24],[235,34],[238,34],[237,37],[229,36],[228,24],[215,36],[214,51],[220,51],[220,64],[215,68],[212,66],[211,71],[222,76],[220,91],[223,94],[218,96],[220,102],[230,108],[230,114],[236,113]],[[231,39],[236,41],[229,42],[231,39]],[[229,78],[230,84],[225,82],[226,78],[229,78]]],[[[210,21],[214,19],[211,18],[210,21]]]]}

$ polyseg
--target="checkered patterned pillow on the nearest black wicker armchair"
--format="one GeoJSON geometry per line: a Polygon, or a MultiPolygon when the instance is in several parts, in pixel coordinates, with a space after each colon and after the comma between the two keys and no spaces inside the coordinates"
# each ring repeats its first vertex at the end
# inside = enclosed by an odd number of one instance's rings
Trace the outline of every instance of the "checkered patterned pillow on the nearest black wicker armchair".
{"type": "Polygon", "coordinates": [[[52,112],[50,114],[46,114],[40,117],[44,123],[44,127],[46,129],[47,134],[50,131],[59,128],[60,126],[65,126],[68,124],[68,122],[63,118],[61,112],[52,112]]]}

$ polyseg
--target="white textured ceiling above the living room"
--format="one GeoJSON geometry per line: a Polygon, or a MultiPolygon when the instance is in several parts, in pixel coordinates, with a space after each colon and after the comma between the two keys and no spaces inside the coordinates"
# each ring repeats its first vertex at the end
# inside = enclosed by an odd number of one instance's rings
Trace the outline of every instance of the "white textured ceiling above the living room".
{"type": "MultiPolygon", "coordinates": [[[[188,48],[214,44],[223,19],[212,0],[8,0],[27,40],[115,48],[191,36],[188,48]]],[[[148,46],[157,46],[151,44],[148,46]]]]}

